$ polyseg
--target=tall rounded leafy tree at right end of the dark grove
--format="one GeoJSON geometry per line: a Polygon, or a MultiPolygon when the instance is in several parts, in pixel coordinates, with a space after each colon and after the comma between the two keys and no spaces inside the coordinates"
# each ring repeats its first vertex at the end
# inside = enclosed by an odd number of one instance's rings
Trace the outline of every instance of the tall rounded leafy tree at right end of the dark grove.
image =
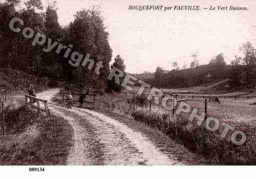
{"type": "MultiPolygon", "coordinates": [[[[79,73],[76,73],[75,71],[77,70],[70,66],[67,60],[64,59],[62,64],[63,74],[70,78],[70,80],[79,79],[83,83],[105,90],[107,86],[107,75],[110,70],[109,62],[112,58],[112,49],[109,45],[109,34],[106,31],[100,11],[96,7],[77,11],[74,21],[63,30],[64,33],[61,35],[64,37],[63,44],[72,44],[72,50],[80,54],[86,55],[89,53],[90,59],[95,62],[94,64],[99,61],[103,62],[100,74],[94,73],[96,65],[93,65],[92,69],[88,69],[88,63],[85,68],[82,68],[79,73]]],[[[75,80],[74,82],[79,81],[75,80]]]]}

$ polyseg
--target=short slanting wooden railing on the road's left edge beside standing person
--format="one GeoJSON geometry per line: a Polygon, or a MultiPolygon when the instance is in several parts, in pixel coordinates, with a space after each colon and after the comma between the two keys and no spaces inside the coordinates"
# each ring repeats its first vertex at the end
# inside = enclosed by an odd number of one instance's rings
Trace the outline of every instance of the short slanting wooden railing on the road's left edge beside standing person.
{"type": "Polygon", "coordinates": [[[48,117],[51,118],[51,113],[50,113],[50,110],[48,109],[47,100],[42,100],[34,96],[25,95],[25,106],[26,107],[31,106],[31,108],[36,108],[38,112],[43,111],[46,113],[48,117]],[[29,102],[28,102],[28,99],[29,99],[29,102]],[[44,109],[40,108],[40,102],[44,104],[44,109]],[[34,103],[36,103],[36,106],[33,105],[34,103]]]}

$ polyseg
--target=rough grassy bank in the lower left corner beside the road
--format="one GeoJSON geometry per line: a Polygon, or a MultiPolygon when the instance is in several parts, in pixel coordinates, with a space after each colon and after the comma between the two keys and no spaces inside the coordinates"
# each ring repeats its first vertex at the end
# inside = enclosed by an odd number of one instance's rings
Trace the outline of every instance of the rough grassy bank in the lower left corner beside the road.
{"type": "Polygon", "coordinates": [[[26,110],[9,110],[6,135],[0,137],[0,165],[64,165],[72,147],[67,121],[26,110]]]}

